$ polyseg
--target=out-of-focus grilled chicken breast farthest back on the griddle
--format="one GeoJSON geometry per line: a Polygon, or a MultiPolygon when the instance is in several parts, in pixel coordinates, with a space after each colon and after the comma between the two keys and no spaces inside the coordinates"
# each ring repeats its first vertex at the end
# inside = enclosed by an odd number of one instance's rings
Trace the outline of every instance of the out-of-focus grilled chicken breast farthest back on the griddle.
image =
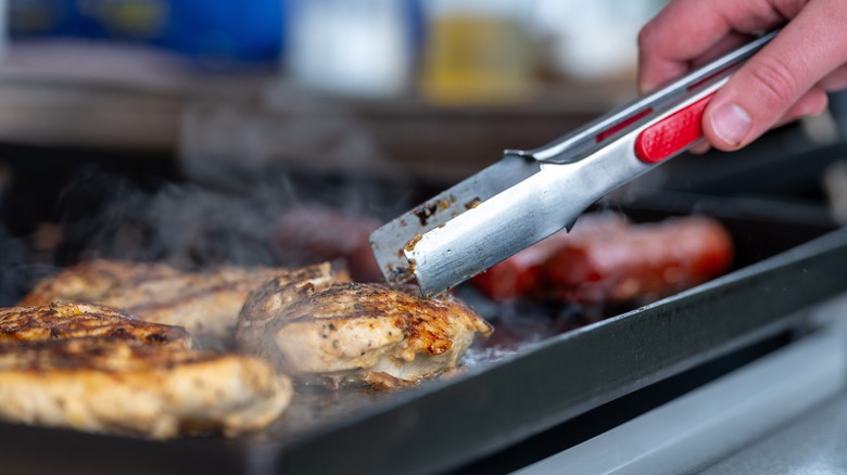
{"type": "Polygon", "coordinates": [[[93,260],[39,282],[18,305],[105,305],[150,322],[182,326],[206,346],[226,347],[251,291],[274,278],[292,282],[316,273],[331,274],[329,265],[182,272],[160,264],[93,260]]]}

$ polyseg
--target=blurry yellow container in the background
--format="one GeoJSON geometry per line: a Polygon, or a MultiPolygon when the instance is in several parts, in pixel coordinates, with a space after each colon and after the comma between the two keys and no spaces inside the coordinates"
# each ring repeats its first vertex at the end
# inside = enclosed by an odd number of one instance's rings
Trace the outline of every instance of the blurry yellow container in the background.
{"type": "Polygon", "coordinates": [[[469,12],[430,21],[423,94],[439,104],[501,103],[526,99],[532,59],[518,17],[469,12]]]}

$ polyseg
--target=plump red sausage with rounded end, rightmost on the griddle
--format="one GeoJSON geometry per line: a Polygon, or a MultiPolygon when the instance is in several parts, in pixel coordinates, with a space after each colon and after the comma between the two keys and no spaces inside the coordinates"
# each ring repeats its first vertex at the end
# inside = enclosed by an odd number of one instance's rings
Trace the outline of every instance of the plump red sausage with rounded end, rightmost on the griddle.
{"type": "Polygon", "coordinates": [[[719,275],[732,258],[732,239],[719,221],[673,218],[569,243],[544,262],[541,280],[555,301],[649,300],[719,275]]]}

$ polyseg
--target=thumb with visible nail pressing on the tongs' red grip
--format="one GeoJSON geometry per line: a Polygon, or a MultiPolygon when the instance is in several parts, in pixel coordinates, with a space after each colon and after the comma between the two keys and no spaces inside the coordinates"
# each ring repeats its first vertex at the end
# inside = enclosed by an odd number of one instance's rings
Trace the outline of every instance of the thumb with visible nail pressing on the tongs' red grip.
{"type": "Polygon", "coordinates": [[[834,14],[838,11],[847,16],[843,0],[810,2],[730,78],[704,114],[704,134],[713,146],[732,151],[748,144],[845,63],[847,18],[834,14]]]}

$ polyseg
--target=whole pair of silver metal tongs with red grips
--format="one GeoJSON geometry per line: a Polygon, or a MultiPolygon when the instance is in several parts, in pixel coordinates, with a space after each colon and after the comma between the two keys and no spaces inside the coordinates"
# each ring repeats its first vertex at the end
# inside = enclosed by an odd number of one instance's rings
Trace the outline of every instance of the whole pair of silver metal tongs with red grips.
{"type": "Polygon", "coordinates": [[[570,228],[597,200],[703,139],[703,113],[771,31],[540,149],[503,159],[384,224],[370,245],[389,283],[433,296],[570,228]]]}

